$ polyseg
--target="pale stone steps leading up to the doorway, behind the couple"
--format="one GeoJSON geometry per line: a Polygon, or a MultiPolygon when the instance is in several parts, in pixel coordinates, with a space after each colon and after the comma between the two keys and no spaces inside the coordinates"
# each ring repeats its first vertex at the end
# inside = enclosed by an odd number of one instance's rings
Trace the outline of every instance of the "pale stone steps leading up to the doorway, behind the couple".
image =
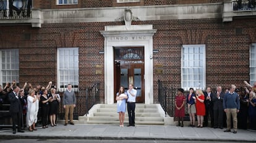
{"type": "MultiPolygon", "coordinates": [[[[128,124],[127,111],[125,116],[124,123],[128,124]]],[[[117,105],[96,104],[91,108],[87,116],[79,116],[79,123],[119,125],[117,105]]],[[[173,117],[166,118],[160,104],[136,104],[136,125],[170,125],[171,123],[173,123],[173,117]]]]}

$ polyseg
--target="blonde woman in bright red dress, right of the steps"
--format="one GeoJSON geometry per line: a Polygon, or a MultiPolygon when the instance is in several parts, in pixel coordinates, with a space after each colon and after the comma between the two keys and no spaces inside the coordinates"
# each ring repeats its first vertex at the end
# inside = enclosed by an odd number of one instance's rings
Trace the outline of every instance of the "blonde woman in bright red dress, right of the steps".
{"type": "Polygon", "coordinates": [[[205,116],[205,96],[203,95],[203,91],[201,89],[197,89],[195,98],[197,99],[195,102],[195,108],[197,109],[197,128],[203,128],[203,116],[205,116]]]}

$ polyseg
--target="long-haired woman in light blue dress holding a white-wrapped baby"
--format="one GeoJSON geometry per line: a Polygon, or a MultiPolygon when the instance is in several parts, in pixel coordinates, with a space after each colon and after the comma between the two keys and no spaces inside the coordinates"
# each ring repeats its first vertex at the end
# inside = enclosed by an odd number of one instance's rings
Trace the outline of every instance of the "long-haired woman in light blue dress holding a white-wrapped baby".
{"type": "Polygon", "coordinates": [[[124,92],[124,86],[120,86],[119,91],[116,93],[117,113],[119,113],[119,121],[121,127],[124,126],[124,115],[126,113],[126,99],[127,94],[124,92]]]}

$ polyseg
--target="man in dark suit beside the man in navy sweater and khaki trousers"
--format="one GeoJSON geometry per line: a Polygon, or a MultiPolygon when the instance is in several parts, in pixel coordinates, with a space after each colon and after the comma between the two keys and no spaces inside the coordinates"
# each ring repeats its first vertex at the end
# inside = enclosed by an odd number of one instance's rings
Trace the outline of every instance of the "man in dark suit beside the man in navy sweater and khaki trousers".
{"type": "Polygon", "coordinates": [[[222,92],[221,86],[216,88],[217,92],[213,94],[213,118],[214,118],[214,126],[213,128],[223,129],[223,97],[224,92],[222,92]]]}

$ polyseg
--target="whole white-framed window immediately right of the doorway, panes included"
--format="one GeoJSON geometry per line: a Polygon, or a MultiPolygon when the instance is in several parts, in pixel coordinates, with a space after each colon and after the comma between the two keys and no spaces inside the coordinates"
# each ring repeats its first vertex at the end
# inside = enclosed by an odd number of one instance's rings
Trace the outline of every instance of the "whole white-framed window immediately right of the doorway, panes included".
{"type": "Polygon", "coordinates": [[[183,45],[181,86],[184,89],[205,89],[205,45],[183,45]]]}

